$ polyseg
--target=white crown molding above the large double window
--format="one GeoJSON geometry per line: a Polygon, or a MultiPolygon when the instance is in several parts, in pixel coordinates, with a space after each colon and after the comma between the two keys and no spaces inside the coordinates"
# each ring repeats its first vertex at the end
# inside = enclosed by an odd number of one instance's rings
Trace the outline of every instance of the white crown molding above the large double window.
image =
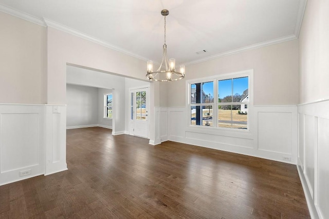
{"type": "Polygon", "coordinates": [[[211,56],[208,56],[208,57],[205,57],[205,58],[202,58],[202,59],[196,59],[194,61],[191,61],[191,62],[188,62],[188,63],[183,63],[181,65],[188,66],[188,65],[193,65],[193,64],[197,64],[197,63],[202,63],[202,62],[209,61],[211,59],[221,58],[221,57],[224,57],[224,56],[233,55],[235,53],[240,53],[240,52],[244,52],[244,51],[248,51],[248,50],[258,49],[258,48],[262,48],[262,47],[265,47],[265,46],[270,46],[270,45],[274,45],[274,44],[283,43],[283,42],[286,42],[286,41],[292,41],[294,39],[297,39],[297,37],[294,34],[292,34],[292,35],[288,35],[288,36],[284,36],[284,37],[280,37],[280,38],[276,38],[276,39],[271,39],[270,41],[265,41],[265,42],[262,42],[262,43],[253,44],[253,45],[246,46],[246,47],[241,47],[239,49],[233,49],[233,50],[230,50],[230,51],[227,51],[227,52],[218,53],[218,54],[211,55],[211,56]]]}

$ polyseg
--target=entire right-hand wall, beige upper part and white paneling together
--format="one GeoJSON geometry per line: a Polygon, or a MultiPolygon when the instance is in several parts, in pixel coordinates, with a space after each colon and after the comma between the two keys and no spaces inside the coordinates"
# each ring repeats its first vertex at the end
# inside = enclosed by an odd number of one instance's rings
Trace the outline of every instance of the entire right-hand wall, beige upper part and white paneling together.
{"type": "Polygon", "coordinates": [[[307,1],[299,37],[298,170],[313,218],[329,218],[329,1],[307,1]]]}

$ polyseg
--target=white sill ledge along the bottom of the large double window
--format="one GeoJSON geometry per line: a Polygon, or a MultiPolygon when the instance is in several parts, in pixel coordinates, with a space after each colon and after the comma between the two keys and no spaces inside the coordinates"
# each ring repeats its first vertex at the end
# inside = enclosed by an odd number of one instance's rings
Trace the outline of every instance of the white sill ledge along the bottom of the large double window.
{"type": "Polygon", "coordinates": [[[211,134],[211,135],[221,135],[228,137],[238,137],[238,138],[246,138],[246,139],[254,139],[253,134],[249,130],[241,130],[234,129],[229,130],[226,128],[216,128],[216,127],[196,127],[196,126],[188,126],[186,128],[187,132],[195,132],[195,133],[203,133],[203,134],[211,134]]]}

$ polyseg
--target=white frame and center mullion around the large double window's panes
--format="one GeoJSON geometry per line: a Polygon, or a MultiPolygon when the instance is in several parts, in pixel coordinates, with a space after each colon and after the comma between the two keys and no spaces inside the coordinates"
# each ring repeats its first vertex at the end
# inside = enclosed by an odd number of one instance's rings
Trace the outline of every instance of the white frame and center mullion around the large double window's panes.
{"type": "MultiPolygon", "coordinates": [[[[219,134],[219,135],[228,135],[233,136],[234,133],[241,133],[242,135],[250,134],[251,127],[252,127],[252,121],[251,118],[251,112],[253,112],[253,69],[250,70],[244,70],[239,72],[232,72],[232,73],[226,73],[226,74],[219,74],[214,75],[210,77],[203,77],[203,78],[196,78],[196,79],[190,79],[186,81],[186,110],[187,110],[187,131],[193,131],[193,132],[201,132],[201,133],[207,133],[207,134],[219,134]],[[218,123],[215,122],[215,118],[218,118],[218,106],[223,105],[223,103],[218,103],[218,81],[225,80],[225,79],[234,79],[239,77],[246,77],[248,76],[248,99],[249,102],[245,102],[244,104],[248,105],[248,114],[247,114],[247,128],[246,129],[237,129],[237,128],[224,128],[224,127],[218,127],[218,123]],[[214,96],[214,103],[206,103],[206,104],[191,104],[191,84],[197,84],[197,83],[205,83],[205,82],[211,82],[213,81],[213,96],[214,96]],[[215,98],[216,97],[216,98],[215,98]],[[216,99],[216,101],[215,101],[216,99]],[[203,105],[211,105],[213,109],[213,116],[212,116],[212,124],[213,126],[203,126],[203,125],[191,125],[191,106],[203,106],[203,105]]],[[[241,104],[241,102],[239,102],[241,104]]],[[[224,103],[225,104],[225,103],[224,103]]],[[[231,103],[228,103],[231,104],[231,103]]],[[[239,105],[240,105],[239,104],[239,105]]]]}

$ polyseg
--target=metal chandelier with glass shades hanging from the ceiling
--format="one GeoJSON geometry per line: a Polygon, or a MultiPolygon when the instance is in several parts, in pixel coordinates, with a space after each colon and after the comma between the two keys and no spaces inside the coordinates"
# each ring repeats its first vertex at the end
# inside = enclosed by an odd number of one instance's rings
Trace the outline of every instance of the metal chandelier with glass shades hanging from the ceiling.
{"type": "Polygon", "coordinates": [[[168,60],[167,56],[167,45],[166,45],[166,16],[169,14],[167,9],[163,9],[161,14],[165,16],[165,44],[163,44],[162,51],[162,62],[158,70],[153,71],[153,62],[148,61],[147,70],[148,73],[146,77],[149,78],[150,81],[155,82],[171,82],[177,81],[181,78],[185,77],[185,66],[181,65],[179,67],[180,71],[175,71],[175,58],[170,58],[168,60]]]}

